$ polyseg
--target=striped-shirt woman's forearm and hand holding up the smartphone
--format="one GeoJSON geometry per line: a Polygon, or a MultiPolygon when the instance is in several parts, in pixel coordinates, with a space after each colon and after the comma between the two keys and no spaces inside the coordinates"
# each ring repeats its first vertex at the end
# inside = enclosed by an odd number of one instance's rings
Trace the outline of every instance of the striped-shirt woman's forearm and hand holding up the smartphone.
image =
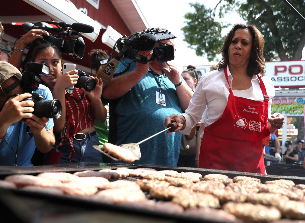
{"type": "Polygon", "coordinates": [[[54,132],[62,132],[66,122],[66,97],[65,89],[76,85],[78,80],[77,70],[71,70],[65,74],[59,73],[53,90],[53,98],[58,99],[62,106],[62,114],[59,119],[54,119],[54,132]]]}

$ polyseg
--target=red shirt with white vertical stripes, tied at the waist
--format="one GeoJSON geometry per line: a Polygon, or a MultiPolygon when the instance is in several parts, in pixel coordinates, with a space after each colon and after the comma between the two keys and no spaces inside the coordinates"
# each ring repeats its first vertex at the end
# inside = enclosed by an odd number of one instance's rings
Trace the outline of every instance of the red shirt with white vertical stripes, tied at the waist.
{"type": "Polygon", "coordinates": [[[94,117],[90,109],[90,99],[79,88],[74,88],[72,95],[66,94],[66,123],[64,131],[56,135],[57,146],[60,148],[69,140],[70,160],[74,157],[73,136],[86,128],[94,127],[94,117]],[[80,100],[81,99],[81,100],[80,100]]]}

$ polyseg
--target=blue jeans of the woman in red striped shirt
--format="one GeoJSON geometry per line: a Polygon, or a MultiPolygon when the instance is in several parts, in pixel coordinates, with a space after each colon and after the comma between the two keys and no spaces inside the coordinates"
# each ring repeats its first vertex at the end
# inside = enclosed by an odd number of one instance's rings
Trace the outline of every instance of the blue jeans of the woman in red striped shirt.
{"type": "Polygon", "coordinates": [[[102,163],[102,153],[94,149],[93,145],[99,145],[99,137],[95,134],[89,136],[83,140],[73,140],[75,155],[72,160],[69,160],[70,144],[66,142],[60,147],[61,157],[59,160],[60,164],[65,163],[79,163],[79,162],[90,162],[90,163],[102,163]]]}

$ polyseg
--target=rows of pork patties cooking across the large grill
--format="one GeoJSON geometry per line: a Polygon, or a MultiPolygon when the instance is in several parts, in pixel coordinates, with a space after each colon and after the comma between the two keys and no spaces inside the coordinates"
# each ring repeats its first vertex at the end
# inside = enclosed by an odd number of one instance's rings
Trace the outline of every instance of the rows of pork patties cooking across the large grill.
{"type": "MultiPolygon", "coordinates": [[[[0,187],[78,196],[102,203],[137,207],[213,221],[269,222],[280,218],[305,219],[305,185],[289,180],[264,184],[258,178],[222,174],[202,175],[150,168],[14,174],[0,187]],[[136,181],[110,178],[141,177],[136,181]],[[200,180],[201,179],[201,180],[200,180]],[[145,193],[154,200],[148,200],[145,193]],[[221,209],[219,209],[221,208],[221,209]]],[[[283,221],[283,220],[280,220],[283,221]]]]}

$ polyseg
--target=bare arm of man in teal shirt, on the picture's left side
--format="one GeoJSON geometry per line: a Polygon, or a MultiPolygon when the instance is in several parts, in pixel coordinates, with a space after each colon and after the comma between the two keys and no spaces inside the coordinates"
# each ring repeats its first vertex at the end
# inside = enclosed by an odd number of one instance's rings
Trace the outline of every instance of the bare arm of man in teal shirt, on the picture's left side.
{"type": "MultiPolygon", "coordinates": [[[[151,58],[152,54],[149,51],[141,51],[138,52],[139,55],[145,56],[148,60],[151,58]]],[[[113,77],[112,80],[107,84],[104,92],[103,98],[104,99],[116,99],[124,94],[126,94],[131,88],[133,88],[141,78],[147,74],[149,70],[149,63],[138,63],[134,70],[117,76],[113,77]]]]}

